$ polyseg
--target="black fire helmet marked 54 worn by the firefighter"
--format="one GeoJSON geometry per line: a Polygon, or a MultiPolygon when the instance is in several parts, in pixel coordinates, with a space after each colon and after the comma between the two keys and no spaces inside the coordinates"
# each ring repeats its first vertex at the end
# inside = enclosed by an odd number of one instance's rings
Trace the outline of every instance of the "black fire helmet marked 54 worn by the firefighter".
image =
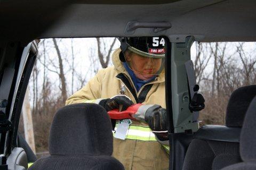
{"type": "Polygon", "coordinates": [[[164,58],[165,40],[163,36],[158,37],[119,37],[121,42],[121,53],[119,58],[125,62],[124,52],[128,49],[143,57],[164,58]]]}

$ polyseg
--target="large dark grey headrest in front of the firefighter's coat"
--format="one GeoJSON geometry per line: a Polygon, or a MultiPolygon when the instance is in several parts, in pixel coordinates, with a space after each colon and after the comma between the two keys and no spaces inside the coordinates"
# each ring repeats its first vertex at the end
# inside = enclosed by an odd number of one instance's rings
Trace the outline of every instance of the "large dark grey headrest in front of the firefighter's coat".
{"type": "Polygon", "coordinates": [[[51,155],[112,155],[113,134],[106,110],[96,104],[60,108],[50,130],[51,155]]]}

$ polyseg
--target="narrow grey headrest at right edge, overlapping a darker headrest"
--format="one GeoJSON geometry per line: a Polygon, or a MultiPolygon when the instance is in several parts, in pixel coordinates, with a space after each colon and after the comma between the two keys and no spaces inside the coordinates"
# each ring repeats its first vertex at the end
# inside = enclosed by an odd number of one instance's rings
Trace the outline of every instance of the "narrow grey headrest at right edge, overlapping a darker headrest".
{"type": "Polygon", "coordinates": [[[256,97],[252,100],[241,132],[240,154],[244,161],[256,159],[256,97]]]}

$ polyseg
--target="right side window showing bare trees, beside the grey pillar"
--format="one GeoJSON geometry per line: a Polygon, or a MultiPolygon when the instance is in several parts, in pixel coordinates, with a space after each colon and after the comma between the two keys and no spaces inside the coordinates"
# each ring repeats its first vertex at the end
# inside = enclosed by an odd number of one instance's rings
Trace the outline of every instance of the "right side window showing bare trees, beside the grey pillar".
{"type": "Polygon", "coordinates": [[[256,83],[255,43],[194,43],[191,60],[205,109],[199,119],[203,124],[225,124],[231,93],[239,87],[256,83]]]}

